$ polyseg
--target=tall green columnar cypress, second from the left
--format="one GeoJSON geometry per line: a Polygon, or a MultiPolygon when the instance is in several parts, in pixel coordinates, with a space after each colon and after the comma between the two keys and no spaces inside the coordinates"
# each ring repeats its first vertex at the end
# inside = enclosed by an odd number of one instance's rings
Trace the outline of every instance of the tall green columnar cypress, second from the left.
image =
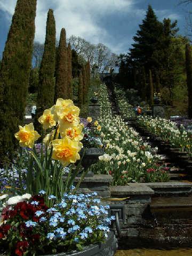
{"type": "Polygon", "coordinates": [[[55,19],[53,10],[47,13],[45,47],[39,70],[38,113],[50,108],[54,103],[55,73],[55,19]]]}

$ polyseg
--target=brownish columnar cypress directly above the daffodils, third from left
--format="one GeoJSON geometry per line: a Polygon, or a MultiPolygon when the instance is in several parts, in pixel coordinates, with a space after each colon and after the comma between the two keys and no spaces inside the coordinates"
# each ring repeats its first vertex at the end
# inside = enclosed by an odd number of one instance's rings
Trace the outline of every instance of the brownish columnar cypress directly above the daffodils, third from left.
{"type": "Polygon", "coordinates": [[[68,54],[66,45],[66,30],[61,29],[57,55],[57,70],[55,72],[55,101],[58,98],[67,99],[68,96],[68,54]]]}

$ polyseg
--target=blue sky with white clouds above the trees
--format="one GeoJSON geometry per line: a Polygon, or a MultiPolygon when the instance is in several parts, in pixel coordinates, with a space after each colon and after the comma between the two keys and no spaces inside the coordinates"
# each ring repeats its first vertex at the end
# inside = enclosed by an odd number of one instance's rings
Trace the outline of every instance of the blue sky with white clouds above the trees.
{"type": "MultiPolygon", "coordinates": [[[[16,3],[17,0],[0,0],[0,58],[16,3]]],[[[47,11],[53,9],[57,39],[65,27],[67,37],[80,36],[93,44],[103,43],[116,54],[126,53],[148,4],[159,20],[177,19],[179,34],[186,35],[186,10],[192,10],[192,4],[178,3],[179,0],[37,0],[35,41],[44,43],[47,11]]]]}

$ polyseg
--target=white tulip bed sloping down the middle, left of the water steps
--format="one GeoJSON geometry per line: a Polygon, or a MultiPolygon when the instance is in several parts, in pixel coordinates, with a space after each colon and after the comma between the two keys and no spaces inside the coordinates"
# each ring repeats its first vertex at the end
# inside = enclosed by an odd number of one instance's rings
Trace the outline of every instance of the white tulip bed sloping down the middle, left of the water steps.
{"type": "Polygon", "coordinates": [[[167,167],[158,164],[159,156],[152,154],[154,150],[148,143],[143,142],[137,132],[127,127],[121,117],[111,115],[106,86],[102,84],[99,92],[101,117],[95,124],[95,131],[103,140],[106,154],[100,157],[98,164],[91,167],[92,170],[96,173],[112,174],[114,185],[126,185],[128,182],[141,180],[169,180],[167,167]]]}

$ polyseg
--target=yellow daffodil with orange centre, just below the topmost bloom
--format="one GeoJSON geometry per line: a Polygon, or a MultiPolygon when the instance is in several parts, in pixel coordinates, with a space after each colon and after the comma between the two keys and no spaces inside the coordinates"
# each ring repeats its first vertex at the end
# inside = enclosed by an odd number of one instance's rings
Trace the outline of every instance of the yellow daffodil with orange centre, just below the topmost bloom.
{"type": "Polygon", "coordinates": [[[78,107],[69,105],[62,111],[62,113],[58,114],[60,132],[65,132],[66,129],[76,127],[79,124],[79,111],[78,107]]]}

